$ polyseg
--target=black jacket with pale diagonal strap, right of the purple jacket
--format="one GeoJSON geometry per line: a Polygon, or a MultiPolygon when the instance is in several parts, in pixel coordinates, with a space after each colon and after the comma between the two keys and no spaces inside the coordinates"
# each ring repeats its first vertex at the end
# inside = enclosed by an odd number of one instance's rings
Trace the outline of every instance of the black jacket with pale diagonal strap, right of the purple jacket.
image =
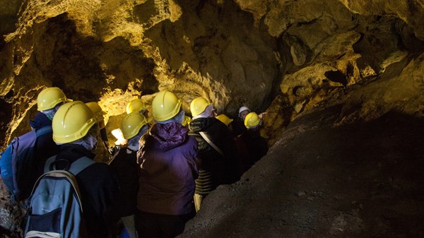
{"type": "Polygon", "coordinates": [[[237,148],[228,127],[215,117],[208,117],[194,119],[189,124],[189,130],[189,135],[194,136],[199,143],[201,160],[195,193],[205,196],[220,184],[235,182],[238,179],[237,148]],[[200,131],[222,150],[223,155],[204,140],[200,131]]]}

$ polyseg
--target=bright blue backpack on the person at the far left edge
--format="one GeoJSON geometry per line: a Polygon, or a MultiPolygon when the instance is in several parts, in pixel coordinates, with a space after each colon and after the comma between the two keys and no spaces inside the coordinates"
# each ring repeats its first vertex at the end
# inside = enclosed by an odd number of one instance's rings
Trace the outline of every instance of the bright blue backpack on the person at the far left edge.
{"type": "Polygon", "coordinates": [[[0,159],[1,180],[11,192],[12,201],[21,201],[28,198],[28,188],[33,187],[37,177],[37,158],[35,144],[37,138],[45,133],[51,133],[52,126],[44,126],[37,131],[29,131],[13,138],[0,159]],[[26,190],[26,191],[25,191],[26,190]]]}

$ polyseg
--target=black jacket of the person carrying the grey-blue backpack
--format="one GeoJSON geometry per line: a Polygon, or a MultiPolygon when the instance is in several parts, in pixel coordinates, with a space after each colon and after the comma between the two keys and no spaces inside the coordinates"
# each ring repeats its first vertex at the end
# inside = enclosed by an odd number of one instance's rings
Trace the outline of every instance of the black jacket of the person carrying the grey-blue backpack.
{"type": "MultiPolygon", "coordinates": [[[[72,163],[83,156],[94,158],[95,155],[82,145],[64,144],[61,145],[56,160],[67,160],[67,163],[72,163]]],[[[57,168],[64,169],[67,163],[58,163],[57,168]]],[[[89,237],[112,237],[111,228],[119,220],[117,212],[119,186],[109,165],[96,162],[83,169],[76,176],[76,181],[81,191],[81,203],[89,237]]]]}

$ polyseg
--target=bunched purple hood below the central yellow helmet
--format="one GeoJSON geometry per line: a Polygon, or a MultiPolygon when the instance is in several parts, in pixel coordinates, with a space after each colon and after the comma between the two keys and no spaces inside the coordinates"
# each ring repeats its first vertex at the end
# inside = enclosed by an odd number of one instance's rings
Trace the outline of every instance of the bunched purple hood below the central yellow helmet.
{"type": "Polygon", "coordinates": [[[170,150],[187,140],[187,132],[188,130],[184,126],[176,122],[155,124],[146,136],[145,146],[170,150]]]}

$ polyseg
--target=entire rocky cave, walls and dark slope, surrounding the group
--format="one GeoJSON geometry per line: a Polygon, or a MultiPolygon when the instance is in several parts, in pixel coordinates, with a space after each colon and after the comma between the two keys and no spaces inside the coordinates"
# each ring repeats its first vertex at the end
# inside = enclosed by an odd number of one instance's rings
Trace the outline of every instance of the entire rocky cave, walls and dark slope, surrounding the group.
{"type": "MultiPolygon", "coordinates": [[[[165,89],[187,114],[196,97],[232,118],[245,105],[266,112],[269,152],[179,237],[424,237],[423,13],[421,0],[4,0],[0,150],[46,87],[99,102],[109,132],[165,89]]],[[[0,189],[0,237],[23,237],[0,189]]]]}

